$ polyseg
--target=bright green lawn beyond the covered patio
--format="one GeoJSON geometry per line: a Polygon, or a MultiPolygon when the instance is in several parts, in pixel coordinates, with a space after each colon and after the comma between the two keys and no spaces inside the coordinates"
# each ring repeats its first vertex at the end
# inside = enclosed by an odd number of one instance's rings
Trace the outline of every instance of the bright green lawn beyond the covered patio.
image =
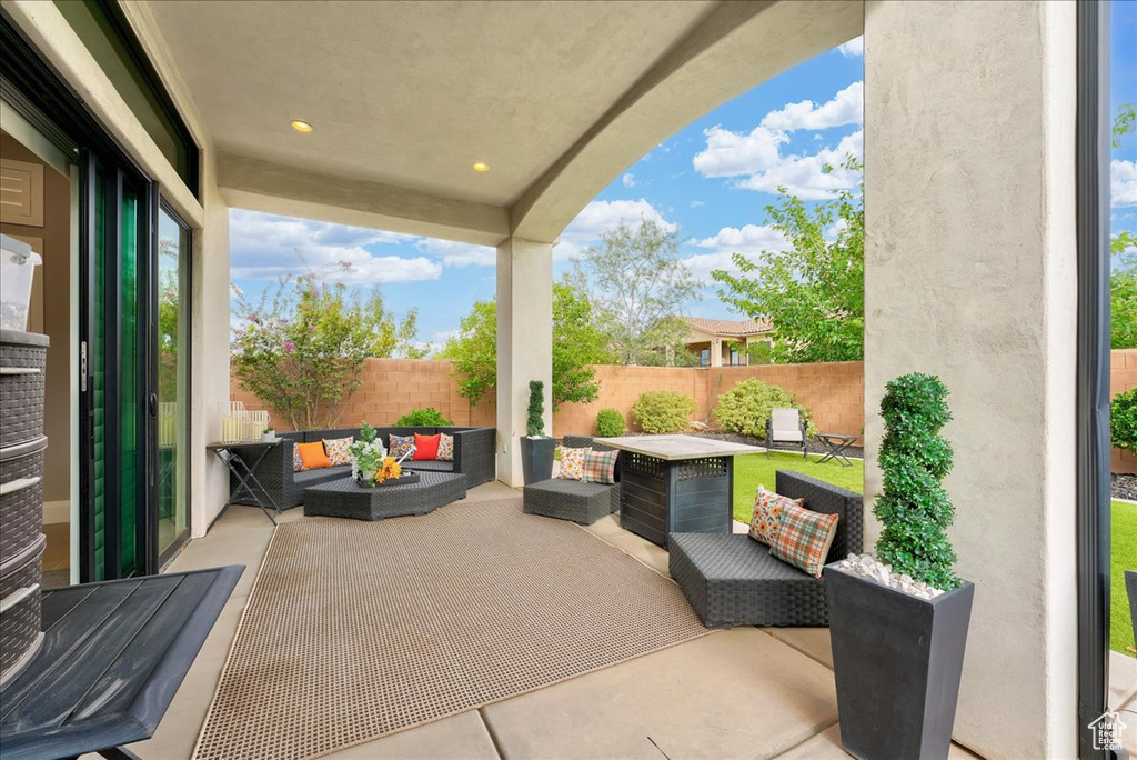
{"type": "MultiPolygon", "coordinates": [[[[754,493],[760,485],[773,490],[775,470],[795,470],[835,486],[864,491],[863,462],[852,460],[853,466],[843,468],[836,462],[818,464],[819,459],[811,456],[806,461],[799,454],[783,452],[771,454],[769,460],[765,454],[735,457],[735,519],[750,521],[754,493]]],[[[1132,570],[1134,557],[1137,557],[1137,504],[1113,502],[1110,524],[1113,543],[1110,557],[1110,649],[1124,652],[1127,646],[1134,646],[1123,571],[1132,570]],[[1121,557],[1127,557],[1128,562],[1122,562],[1121,557]]]]}

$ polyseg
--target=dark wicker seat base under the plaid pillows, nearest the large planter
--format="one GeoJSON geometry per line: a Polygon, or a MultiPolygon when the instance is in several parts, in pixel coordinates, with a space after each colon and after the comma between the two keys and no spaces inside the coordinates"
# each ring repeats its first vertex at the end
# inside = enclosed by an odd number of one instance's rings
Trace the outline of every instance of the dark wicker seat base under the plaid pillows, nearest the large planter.
{"type": "Polygon", "coordinates": [[[707,628],[828,626],[825,584],[746,534],[671,534],[671,577],[707,628]]]}

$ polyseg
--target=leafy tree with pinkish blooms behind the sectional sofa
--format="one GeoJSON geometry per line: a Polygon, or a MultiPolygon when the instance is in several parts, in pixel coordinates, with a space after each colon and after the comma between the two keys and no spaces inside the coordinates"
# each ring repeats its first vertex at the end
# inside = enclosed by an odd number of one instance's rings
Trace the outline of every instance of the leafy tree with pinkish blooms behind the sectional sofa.
{"type": "Polygon", "coordinates": [[[317,274],[282,278],[256,304],[238,295],[235,312],[233,371],[293,430],[334,427],[367,358],[421,355],[415,312],[396,321],[377,290],[354,298],[317,274]]]}

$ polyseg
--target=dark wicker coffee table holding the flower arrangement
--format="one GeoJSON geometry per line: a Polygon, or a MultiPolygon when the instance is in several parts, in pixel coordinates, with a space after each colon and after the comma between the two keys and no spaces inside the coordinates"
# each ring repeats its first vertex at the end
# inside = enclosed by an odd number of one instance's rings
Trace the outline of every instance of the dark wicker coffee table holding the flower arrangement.
{"type": "Polygon", "coordinates": [[[460,472],[420,472],[418,482],[364,488],[351,478],[304,489],[305,515],[382,520],[404,514],[426,514],[466,497],[460,472]]]}

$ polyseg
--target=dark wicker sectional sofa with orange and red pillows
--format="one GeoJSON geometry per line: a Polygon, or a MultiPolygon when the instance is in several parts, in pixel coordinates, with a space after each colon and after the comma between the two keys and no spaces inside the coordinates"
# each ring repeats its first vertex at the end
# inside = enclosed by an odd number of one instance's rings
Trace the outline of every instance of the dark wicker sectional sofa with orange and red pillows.
{"type": "MultiPolygon", "coordinates": [[[[460,472],[466,476],[468,488],[493,480],[497,476],[497,430],[493,428],[376,428],[380,440],[390,447],[390,436],[433,436],[445,432],[454,436],[454,461],[440,462],[422,460],[409,464],[412,469],[433,472],[460,472]]],[[[358,437],[359,428],[334,430],[296,430],[281,433],[283,441],[273,448],[256,470],[257,480],[264,490],[282,510],[291,510],[304,501],[304,489],[351,474],[350,466],[324,468],[321,470],[292,471],[294,444],[315,443],[325,438],[358,437]]],[[[252,459],[252,455],[250,455],[252,459]]],[[[230,488],[236,480],[230,479],[230,488]]],[[[267,502],[266,502],[267,503],[267,502]]]]}

